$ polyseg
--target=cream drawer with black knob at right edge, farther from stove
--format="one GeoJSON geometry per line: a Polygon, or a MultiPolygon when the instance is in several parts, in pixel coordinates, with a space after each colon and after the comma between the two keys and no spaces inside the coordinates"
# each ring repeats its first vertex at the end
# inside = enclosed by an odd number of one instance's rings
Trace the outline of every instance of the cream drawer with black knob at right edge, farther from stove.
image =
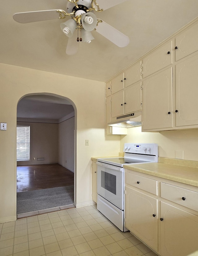
{"type": "Polygon", "coordinates": [[[198,192],[161,182],[161,197],[198,211],[198,192]]]}

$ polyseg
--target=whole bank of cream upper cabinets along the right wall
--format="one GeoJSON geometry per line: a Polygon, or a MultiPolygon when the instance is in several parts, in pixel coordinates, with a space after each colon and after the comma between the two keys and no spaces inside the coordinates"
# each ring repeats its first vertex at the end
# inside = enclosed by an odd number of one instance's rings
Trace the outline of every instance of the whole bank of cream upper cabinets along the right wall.
{"type": "Polygon", "coordinates": [[[142,110],[142,131],[198,129],[197,31],[198,19],[107,83],[111,122],[142,110]]]}

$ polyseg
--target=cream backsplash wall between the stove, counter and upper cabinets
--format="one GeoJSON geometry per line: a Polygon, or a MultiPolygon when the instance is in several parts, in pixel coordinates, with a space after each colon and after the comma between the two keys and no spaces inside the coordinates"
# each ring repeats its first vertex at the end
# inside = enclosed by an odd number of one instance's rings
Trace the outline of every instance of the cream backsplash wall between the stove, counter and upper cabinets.
{"type": "Polygon", "coordinates": [[[184,151],[184,159],[198,161],[198,130],[173,130],[141,132],[141,126],[128,128],[126,136],[121,135],[120,151],[124,143],[157,143],[158,156],[175,158],[175,150],[184,151]]]}

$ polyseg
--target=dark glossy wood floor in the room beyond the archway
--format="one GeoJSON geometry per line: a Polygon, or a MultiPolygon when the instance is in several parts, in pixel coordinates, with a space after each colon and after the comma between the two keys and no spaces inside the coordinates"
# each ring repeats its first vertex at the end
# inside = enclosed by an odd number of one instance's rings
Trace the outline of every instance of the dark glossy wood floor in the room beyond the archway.
{"type": "Polygon", "coordinates": [[[74,173],[59,164],[17,166],[17,192],[74,184],[74,173]]]}

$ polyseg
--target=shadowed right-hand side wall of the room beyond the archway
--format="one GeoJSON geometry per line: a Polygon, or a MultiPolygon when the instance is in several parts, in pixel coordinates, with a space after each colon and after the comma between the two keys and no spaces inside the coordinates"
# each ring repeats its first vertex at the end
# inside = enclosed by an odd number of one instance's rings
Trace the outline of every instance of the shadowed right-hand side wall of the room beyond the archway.
{"type": "Polygon", "coordinates": [[[58,124],[58,163],[74,172],[75,118],[58,124]],[[67,161],[67,163],[66,163],[67,161]]]}

